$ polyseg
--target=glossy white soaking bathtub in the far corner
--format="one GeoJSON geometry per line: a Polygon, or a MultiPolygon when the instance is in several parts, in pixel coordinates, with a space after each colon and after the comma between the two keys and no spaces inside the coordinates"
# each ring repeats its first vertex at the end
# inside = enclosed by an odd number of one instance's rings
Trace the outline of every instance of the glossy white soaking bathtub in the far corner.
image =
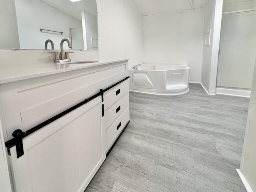
{"type": "Polygon", "coordinates": [[[130,91],[156,95],[180,95],[188,92],[188,65],[141,64],[130,68],[130,91]],[[133,67],[134,68],[134,67],[133,67]]]}

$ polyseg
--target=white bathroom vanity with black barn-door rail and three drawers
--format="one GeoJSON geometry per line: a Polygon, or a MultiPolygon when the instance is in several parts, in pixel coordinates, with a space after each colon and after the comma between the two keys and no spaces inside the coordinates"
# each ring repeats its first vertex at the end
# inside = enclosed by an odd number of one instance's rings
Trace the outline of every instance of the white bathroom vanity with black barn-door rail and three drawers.
{"type": "Polygon", "coordinates": [[[14,188],[83,192],[129,123],[128,60],[38,67],[1,72],[14,188]]]}

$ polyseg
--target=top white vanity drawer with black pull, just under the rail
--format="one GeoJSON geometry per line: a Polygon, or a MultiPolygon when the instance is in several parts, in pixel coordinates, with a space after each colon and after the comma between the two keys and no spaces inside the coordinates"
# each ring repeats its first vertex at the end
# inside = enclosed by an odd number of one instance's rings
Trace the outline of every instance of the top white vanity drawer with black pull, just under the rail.
{"type": "Polygon", "coordinates": [[[129,80],[118,84],[104,94],[104,106],[108,109],[114,102],[120,99],[129,91],[129,80]]]}

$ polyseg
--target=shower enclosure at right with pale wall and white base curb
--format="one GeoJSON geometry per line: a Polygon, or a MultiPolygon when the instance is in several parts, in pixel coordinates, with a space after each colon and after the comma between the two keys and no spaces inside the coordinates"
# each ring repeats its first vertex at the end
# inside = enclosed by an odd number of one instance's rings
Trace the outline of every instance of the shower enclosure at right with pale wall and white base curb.
{"type": "Polygon", "coordinates": [[[223,13],[216,93],[225,90],[250,96],[256,58],[255,18],[256,9],[223,13]]]}

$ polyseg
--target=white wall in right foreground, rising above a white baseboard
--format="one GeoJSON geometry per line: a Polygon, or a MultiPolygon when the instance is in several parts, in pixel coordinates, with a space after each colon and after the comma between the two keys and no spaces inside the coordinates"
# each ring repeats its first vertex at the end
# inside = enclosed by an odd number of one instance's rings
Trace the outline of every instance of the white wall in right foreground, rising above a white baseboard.
{"type": "Polygon", "coordinates": [[[254,77],[252,82],[252,92],[250,97],[250,105],[248,119],[246,124],[246,132],[244,137],[244,148],[242,152],[242,160],[240,170],[242,175],[248,182],[252,192],[256,192],[256,68],[254,68],[254,77]]]}

